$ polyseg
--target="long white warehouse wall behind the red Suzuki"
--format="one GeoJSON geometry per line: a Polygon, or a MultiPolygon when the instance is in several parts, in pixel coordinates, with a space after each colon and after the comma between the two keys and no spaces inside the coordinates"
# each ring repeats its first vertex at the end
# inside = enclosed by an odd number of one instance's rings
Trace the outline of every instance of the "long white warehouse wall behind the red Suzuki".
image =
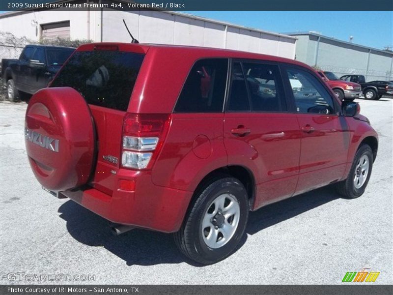
{"type": "Polygon", "coordinates": [[[0,28],[2,32],[11,32],[17,37],[26,36],[38,41],[41,37],[40,25],[69,20],[71,39],[130,42],[123,18],[140,43],[227,48],[289,59],[295,56],[296,40],[293,38],[155,10],[101,12],[54,9],[22,12],[8,17],[0,16],[0,28]],[[38,25],[32,25],[32,20],[38,25]]]}

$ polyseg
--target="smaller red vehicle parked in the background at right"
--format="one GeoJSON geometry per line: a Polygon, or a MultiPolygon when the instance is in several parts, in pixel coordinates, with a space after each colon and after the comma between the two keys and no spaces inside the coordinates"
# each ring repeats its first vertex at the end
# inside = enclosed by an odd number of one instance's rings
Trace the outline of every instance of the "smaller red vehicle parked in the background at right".
{"type": "Polygon", "coordinates": [[[339,100],[354,100],[363,95],[362,86],[358,83],[340,80],[332,72],[318,71],[318,74],[333,89],[339,100]]]}

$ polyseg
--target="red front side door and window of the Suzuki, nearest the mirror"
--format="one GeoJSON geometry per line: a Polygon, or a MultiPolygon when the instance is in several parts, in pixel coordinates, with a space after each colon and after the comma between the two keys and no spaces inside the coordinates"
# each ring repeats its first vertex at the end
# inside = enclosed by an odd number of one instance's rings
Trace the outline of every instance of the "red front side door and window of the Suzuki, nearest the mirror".
{"type": "Polygon", "coordinates": [[[345,119],[339,116],[335,98],[311,71],[287,66],[285,72],[302,134],[300,175],[296,188],[296,194],[299,194],[342,177],[347,161],[349,130],[345,119]],[[297,81],[296,87],[293,81],[297,81]],[[300,88],[299,83],[302,85],[300,88]]]}

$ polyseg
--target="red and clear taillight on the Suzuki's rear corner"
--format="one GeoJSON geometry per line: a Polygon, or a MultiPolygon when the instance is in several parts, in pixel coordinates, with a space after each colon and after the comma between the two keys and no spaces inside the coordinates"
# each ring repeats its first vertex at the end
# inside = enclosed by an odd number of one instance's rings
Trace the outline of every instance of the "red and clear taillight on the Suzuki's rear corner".
{"type": "Polygon", "coordinates": [[[150,169],[167,135],[170,115],[127,114],[123,123],[121,166],[150,169]]]}

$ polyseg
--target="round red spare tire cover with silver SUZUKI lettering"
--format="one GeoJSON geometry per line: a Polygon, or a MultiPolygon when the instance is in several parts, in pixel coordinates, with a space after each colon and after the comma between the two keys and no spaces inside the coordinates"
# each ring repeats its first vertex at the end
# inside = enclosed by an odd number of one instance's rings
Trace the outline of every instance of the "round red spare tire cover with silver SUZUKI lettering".
{"type": "Polygon", "coordinates": [[[25,143],[42,186],[64,191],[85,184],[93,169],[95,134],[82,95],[70,87],[37,91],[26,111],[25,143]]]}

